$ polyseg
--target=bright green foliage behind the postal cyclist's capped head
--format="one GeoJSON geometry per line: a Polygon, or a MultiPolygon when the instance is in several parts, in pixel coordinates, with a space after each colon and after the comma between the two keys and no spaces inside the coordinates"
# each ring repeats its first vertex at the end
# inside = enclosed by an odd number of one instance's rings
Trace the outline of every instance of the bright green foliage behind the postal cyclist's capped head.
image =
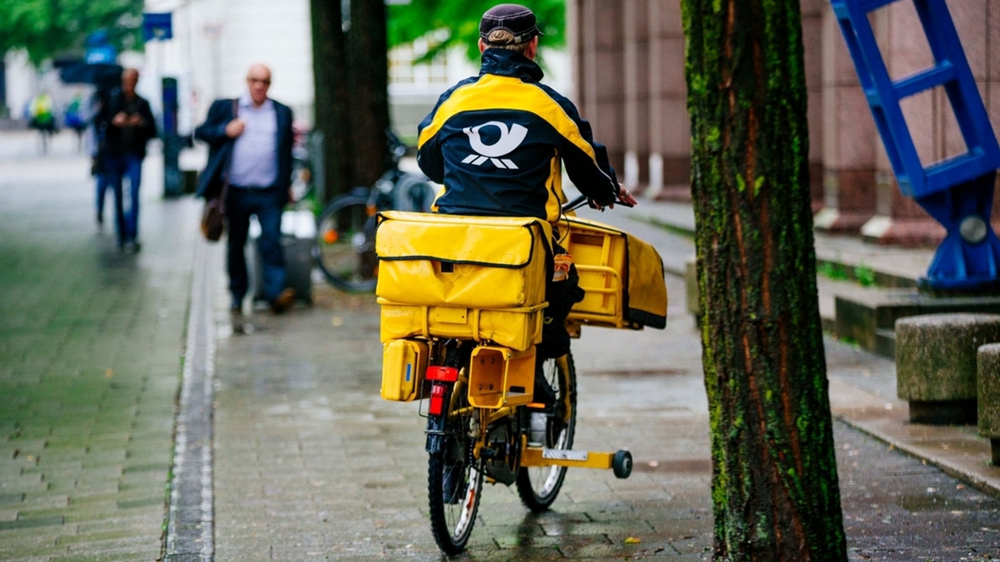
{"type": "MultiPolygon", "coordinates": [[[[496,0],[412,0],[389,6],[389,47],[405,45],[443,30],[428,41],[429,49],[420,62],[428,61],[454,45],[466,48],[471,61],[479,60],[479,19],[496,0]]],[[[566,4],[564,0],[533,0],[524,3],[535,12],[538,27],[545,34],[542,45],[566,44],[566,4]]]]}

